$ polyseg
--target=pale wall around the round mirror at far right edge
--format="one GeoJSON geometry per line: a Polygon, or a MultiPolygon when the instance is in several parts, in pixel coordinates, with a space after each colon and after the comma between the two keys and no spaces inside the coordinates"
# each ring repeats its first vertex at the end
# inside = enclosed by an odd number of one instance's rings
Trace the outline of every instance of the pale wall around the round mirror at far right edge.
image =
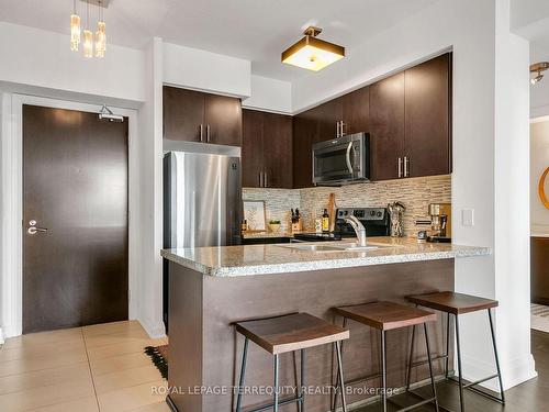
{"type": "MultiPolygon", "coordinates": [[[[533,232],[549,234],[549,209],[538,196],[541,174],[549,167],[549,118],[533,121],[530,125],[530,220],[533,232]]],[[[549,179],[547,180],[549,182],[549,179]]],[[[546,185],[549,196],[549,185],[546,185]]]]}

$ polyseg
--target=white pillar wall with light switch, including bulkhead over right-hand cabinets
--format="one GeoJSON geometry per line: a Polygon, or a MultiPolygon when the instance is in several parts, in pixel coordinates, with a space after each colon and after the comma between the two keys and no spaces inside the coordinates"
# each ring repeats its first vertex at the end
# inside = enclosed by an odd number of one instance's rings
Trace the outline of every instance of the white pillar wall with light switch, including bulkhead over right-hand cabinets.
{"type": "MultiPolygon", "coordinates": [[[[496,230],[496,224],[508,226],[508,222],[516,222],[517,214],[505,204],[513,204],[522,212],[528,208],[524,190],[529,185],[525,175],[528,160],[524,157],[527,144],[517,146],[520,141],[528,140],[524,129],[528,118],[528,101],[525,100],[528,78],[517,75],[524,75],[527,69],[527,44],[508,35],[508,24],[507,0],[440,0],[362,46],[349,49],[348,58],[292,85],[293,109],[300,111],[441,51],[453,49],[453,240],[457,244],[490,246],[494,250],[488,257],[457,259],[456,290],[500,300],[501,314],[496,322],[506,387],[535,375],[526,312],[529,299],[524,293],[529,285],[525,230],[528,213],[519,214],[523,220],[516,223],[516,230],[496,230]],[[502,5],[507,7],[505,13],[501,12],[502,5]],[[516,60],[505,62],[503,53],[511,53],[516,60]],[[505,63],[509,64],[508,68],[505,63]],[[502,73],[496,79],[498,71],[502,73]],[[525,86],[519,87],[520,81],[525,81],[525,86]],[[496,96],[516,98],[516,102],[496,104],[496,96]],[[505,127],[509,127],[508,131],[505,127]],[[498,140],[502,142],[496,147],[498,140]],[[513,149],[517,152],[516,160],[508,157],[513,149]],[[508,176],[500,170],[515,170],[517,162],[523,169],[506,181],[508,176]],[[517,189],[516,198],[512,189],[517,189]],[[473,226],[464,226],[461,222],[466,209],[474,210],[473,226]],[[507,235],[514,236],[516,254],[508,250],[507,235]],[[516,270],[515,274],[512,270],[516,270]],[[506,288],[502,287],[503,282],[507,282],[506,288]],[[516,288],[516,296],[513,288],[516,288]],[[518,309],[517,315],[509,315],[513,309],[518,309]],[[511,331],[515,331],[513,338],[511,331]]],[[[493,369],[485,314],[466,316],[461,332],[466,378],[490,375],[493,369]]]]}

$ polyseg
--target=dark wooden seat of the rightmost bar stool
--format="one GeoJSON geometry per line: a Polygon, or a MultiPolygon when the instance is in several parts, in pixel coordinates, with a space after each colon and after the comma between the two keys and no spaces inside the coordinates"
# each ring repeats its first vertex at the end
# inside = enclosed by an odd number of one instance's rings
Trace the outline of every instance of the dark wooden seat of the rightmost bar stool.
{"type": "Polygon", "coordinates": [[[496,300],[478,298],[470,294],[456,292],[436,292],[418,294],[406,298],[410,302],[419,307],[435,309],[437,311],[464,314],[497,307],[496,300]]]}

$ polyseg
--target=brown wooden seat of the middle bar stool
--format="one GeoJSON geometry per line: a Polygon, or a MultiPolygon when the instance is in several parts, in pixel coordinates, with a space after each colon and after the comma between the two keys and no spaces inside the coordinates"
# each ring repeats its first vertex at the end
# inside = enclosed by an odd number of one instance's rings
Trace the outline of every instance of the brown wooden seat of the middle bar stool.
{"type": "Polygon", "coordinates": [[[435,313],[394,302],[374,302],[352,307],[339,307],[335,308],[334,311],[344,318],[351,319],[380,331],[413,326],[425,322],[435,322],[437,320],[435,313]]]}

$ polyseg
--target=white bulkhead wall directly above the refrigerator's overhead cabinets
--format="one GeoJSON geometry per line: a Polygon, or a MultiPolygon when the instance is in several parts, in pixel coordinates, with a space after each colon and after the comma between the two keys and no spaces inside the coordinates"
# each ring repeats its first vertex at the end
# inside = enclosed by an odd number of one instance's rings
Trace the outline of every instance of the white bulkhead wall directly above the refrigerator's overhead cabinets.
{"type": "Polygon", "coordinates": [[[251,94],[249,60],[165,43],[163,65],[167,85],[240,98],[251,94]]]}

